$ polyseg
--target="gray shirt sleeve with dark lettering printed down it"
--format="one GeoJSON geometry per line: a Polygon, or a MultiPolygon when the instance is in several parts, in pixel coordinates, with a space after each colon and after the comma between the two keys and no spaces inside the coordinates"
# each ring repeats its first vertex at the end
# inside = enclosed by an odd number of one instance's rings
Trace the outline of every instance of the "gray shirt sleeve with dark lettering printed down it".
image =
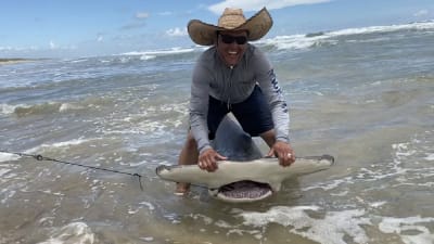
{"type": "Polygon", "coordinates": [[[289,107],[275,70],[268,59],[259,49],[255,49],[253,59],[255,70],[257,70],[256,80],[266,95],[271,110],[272,121],[275,123],[276,140],[290,142],[289,107]]]}

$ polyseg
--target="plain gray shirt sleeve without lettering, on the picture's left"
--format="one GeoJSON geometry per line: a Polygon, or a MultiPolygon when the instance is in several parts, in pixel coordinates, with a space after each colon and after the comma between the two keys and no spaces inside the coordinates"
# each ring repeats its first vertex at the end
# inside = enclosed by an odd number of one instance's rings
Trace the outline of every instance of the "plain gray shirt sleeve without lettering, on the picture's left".
{"type": "Polygon", "coordinates": [[[200,57],[194,66],[190,98],[190,127],[200,153],[212,149],[207,126],[209,76],[206,75],[208,74],[206,67],[201,65],[202,62],[200,57]]]}

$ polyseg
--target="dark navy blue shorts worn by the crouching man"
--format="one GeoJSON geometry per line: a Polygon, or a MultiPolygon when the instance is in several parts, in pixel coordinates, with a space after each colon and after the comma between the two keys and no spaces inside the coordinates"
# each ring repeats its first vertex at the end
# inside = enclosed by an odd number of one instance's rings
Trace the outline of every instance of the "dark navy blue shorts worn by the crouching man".
{"type": "Polygon", "coordinates": [[[255,86],[246,100],[230,104],[230,106],[226,102],[209,97],[207,119],[209,140],[214,139],[218,125],[229,112],[232,112],[243,130],[251,137],[257,137],[275,128],[270,107],[258,86],[255,86]]]}

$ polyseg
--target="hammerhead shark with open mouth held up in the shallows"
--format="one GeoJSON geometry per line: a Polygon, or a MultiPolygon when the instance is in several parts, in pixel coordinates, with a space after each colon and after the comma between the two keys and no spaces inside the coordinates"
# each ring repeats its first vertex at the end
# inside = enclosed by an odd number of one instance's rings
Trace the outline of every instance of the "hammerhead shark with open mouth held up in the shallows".
{"type": "Polygon", "coordinates": [[[228,159],[218,162],[218,169],[208,172],[197,165],[161,165],[156,175],[164,180],[190,182],[208,189],[209,195],[226,202],[255,202],[280,191],[286,179],[317,172],[334,164],[333,156],[296,157],[289,167],[277,157],[264,157],[250,134],[230,114],[220,123],[213,147],[228,159]]]}

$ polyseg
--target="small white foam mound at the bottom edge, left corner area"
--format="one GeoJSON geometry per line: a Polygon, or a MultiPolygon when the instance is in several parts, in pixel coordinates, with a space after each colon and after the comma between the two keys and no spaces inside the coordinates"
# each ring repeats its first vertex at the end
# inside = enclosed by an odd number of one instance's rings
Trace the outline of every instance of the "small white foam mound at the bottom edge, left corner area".
{"type": "Polygon", "coordinates": [[[39,244],[62,244],[62,243],[94,243],[92,230],[84,222],[72,222],[60,229],[54,229],[51,236],[39,244]]]}

